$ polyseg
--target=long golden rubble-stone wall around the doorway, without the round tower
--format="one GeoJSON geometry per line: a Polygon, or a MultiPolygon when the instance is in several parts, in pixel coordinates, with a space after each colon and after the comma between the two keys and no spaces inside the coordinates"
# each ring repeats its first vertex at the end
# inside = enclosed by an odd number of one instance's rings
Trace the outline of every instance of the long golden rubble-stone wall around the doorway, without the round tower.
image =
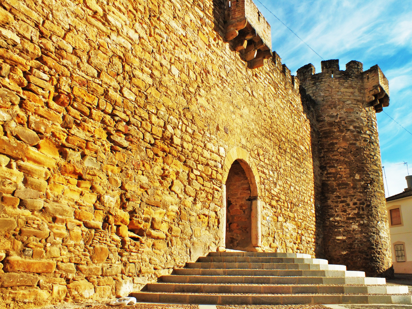
{"type": "Polygon", "coordinates": [[[277,54],[250,70],[222,40],[224,10],[0,3],[5,302],[124,296],[216,250],[236,159],[258,180],[255,250],[314,255],[313,113],[277,54]]]}

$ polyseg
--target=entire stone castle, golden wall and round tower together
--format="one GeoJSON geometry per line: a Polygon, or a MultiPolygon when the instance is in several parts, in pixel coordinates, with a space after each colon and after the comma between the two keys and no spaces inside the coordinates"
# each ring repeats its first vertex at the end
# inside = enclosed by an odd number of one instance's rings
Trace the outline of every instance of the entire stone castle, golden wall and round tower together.
{"type": "Polygon", "coordinates": [[[308,66],[250,0],[0,0],[0,305],[125,296],[226,244],[390,274],[387,80],[308,66]]]}

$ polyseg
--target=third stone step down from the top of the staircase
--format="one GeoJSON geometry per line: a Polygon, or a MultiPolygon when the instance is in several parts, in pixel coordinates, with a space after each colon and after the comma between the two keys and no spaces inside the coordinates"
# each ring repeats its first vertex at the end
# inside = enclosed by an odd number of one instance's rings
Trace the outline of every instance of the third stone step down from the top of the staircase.
{"type": "Polygon", "coordinates": [[[345,265],[333,264],[297,264],[297,263],[208,263],[189,262],[187,268],[203,269],[302,269],[302,270],[342,270],[345,265]]]}

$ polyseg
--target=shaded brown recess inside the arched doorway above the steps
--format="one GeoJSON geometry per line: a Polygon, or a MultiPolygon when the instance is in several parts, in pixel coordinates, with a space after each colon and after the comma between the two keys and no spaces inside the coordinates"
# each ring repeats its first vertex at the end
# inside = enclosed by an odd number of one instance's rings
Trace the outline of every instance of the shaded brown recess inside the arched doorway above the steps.
{"type": "Polygon", "coordinates": [[[226,248],[252,246],[252,195],[245,170],[238,160],[232,163],[226,180],[226,248]]]}

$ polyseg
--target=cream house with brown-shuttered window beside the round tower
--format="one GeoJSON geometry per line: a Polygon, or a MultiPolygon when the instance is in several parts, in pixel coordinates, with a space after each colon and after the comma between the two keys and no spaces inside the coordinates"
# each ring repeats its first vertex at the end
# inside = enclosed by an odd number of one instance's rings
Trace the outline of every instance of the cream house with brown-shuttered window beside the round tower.
{"type": "Polygon", "coordinates": [[[395,274],[412,274],[412,176],[405,178],[405,191],[386,199],[395,274]]]}

